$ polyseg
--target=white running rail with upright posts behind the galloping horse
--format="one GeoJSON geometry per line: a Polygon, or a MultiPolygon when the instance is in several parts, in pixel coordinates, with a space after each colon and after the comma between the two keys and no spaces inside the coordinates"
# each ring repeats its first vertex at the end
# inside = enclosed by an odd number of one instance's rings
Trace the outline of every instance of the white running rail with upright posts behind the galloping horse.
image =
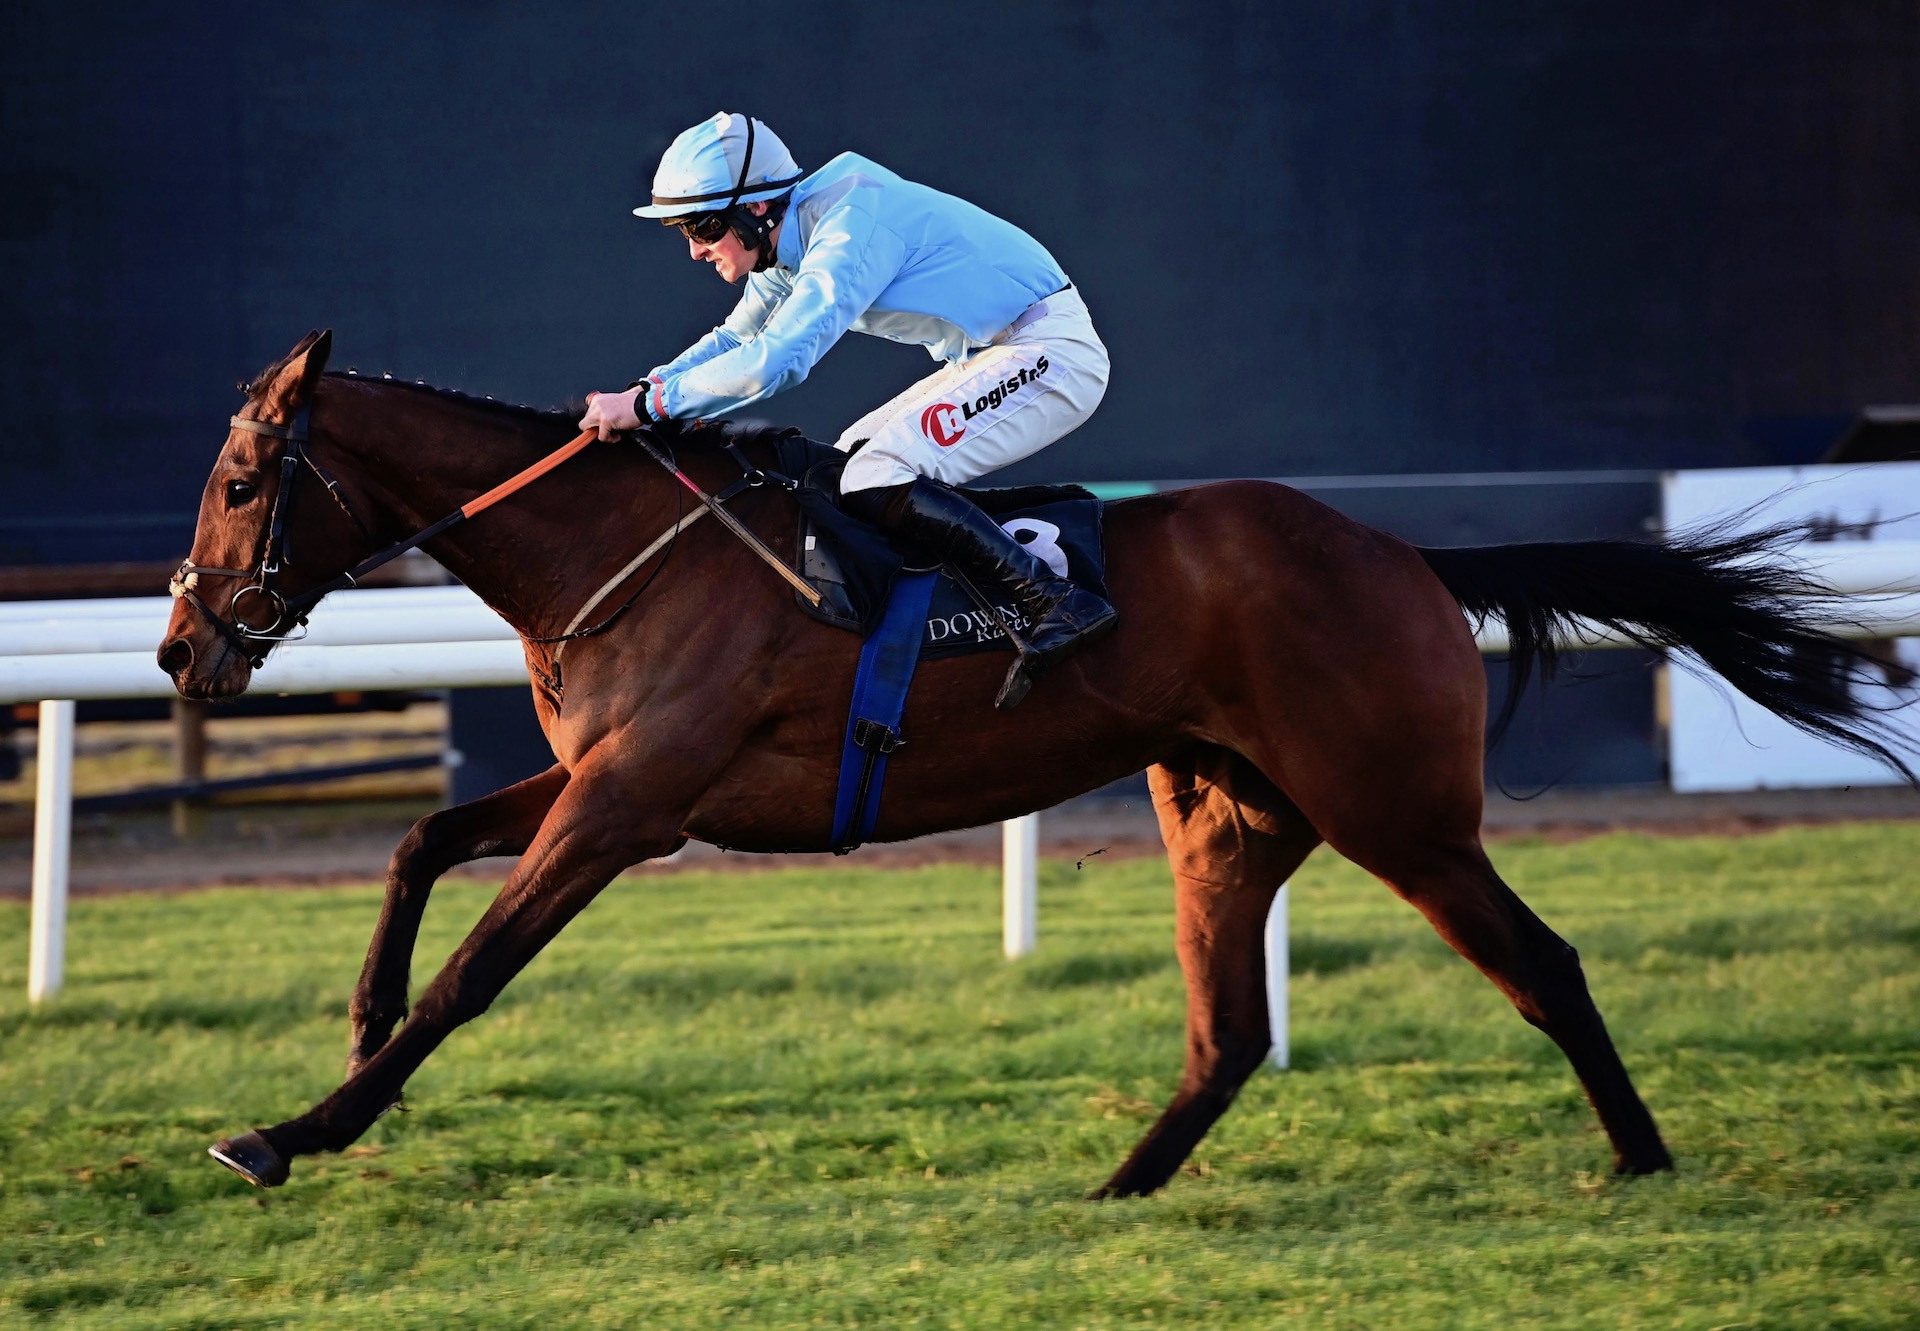
{"type": "MultiPolygon", "coordinates": [[[[1920,542],[1807,547],[1807,563],[1853,603],[1855,638],[1920,634],[1920,542]]],[[[67,857],[73,807],[73,703],[104,697],[173,697],[154,663],[171,613],[167,597],[0,603],[0,703],[40,703],[35,786],[35,859],[29,999],[56,993],[65,956],[67,857]]],[[[1628,645],[1609,634],[1590,647],[1628,645]]],[[[1503,651],[1505,628],[1490,624],[1482,651],[1503,651]]],[[[342,592],[313,632],[275,651],[253,676],[255,693],[342,690],[486,688],[526,684],[513,630],[465,588],[342,592]]],[[[1035,945],[1037,816],[1004,824],[1004,920],[1008,956],[1035,945]]],[[[1286,885],[1267,922],[1267,985],[1275,1062],[1286,1066],[1286,885]]]]}

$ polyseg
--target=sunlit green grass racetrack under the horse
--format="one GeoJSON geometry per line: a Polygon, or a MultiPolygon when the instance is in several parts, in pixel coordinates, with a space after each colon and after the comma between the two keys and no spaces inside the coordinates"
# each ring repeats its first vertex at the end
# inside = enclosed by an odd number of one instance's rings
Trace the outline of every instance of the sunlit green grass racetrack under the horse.
{"type": "Polygon", "coordinates": [[[81,899],[40,1012],[4,905],[0,1325],[1920,1323],[1920,826],[1496,860],[1676,1175],[1613,1181],[1559,1053],[1325,853],[1296,1068],[1106,1204],[1181,1056],[1154,860],[1048,864],[1021,964],[989,868],[622,880],[276,1193],[204,1150],[332,1089],[376,893],[81,899]]]}

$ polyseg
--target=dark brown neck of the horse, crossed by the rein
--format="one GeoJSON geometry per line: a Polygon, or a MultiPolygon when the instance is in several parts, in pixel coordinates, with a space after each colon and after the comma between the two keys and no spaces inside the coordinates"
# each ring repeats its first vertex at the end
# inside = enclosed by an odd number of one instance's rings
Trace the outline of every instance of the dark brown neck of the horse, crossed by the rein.
{"type": "MultiPolygon", "coordinates": [[[[338,438],[348,449],[372,530],[405,540],[520,472],[564,438],[538,421],[516,421],[411,390],[342,392],[338,438]]],[[[586,455],[534,480],[499,509],[459,522],[426,549],[524,634],[555,634],[557,617],[591,592],[603,526],[622,522],[634,499],[586,484],[586,455]],[[591,494],[589,494],[591,490],[591,494]],[[618,499],[620,503],[611,503],[618,499]]],[[[614,542],[614,547],[618,544],[614,542]]]]}

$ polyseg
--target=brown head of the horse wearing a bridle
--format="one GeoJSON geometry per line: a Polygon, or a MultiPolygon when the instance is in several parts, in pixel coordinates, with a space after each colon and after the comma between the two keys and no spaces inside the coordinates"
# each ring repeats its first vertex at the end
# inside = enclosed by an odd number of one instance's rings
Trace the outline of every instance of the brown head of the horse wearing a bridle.
{"type": "Polygon", "coordinates": [[[313,478],[298,484],[301,471],[328,480],[307,455],[307,423],[330,350],[330,332],[309,332],[261,371],[232,417],[159,647],[159,668],[184,697],[246,691],[267,651],[303,622],[301,592],[353,563],[351,524],[313,478]],[[300,492],[305,501],[294,503],[300,492]]]}

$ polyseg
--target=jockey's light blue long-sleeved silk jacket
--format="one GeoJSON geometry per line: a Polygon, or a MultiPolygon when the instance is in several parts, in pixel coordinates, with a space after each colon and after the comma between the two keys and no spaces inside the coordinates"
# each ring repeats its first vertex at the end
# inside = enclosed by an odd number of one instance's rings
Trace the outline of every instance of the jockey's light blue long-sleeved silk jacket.
{"type": "Polygon", "coordinates": [[[1064,286],[1020,227],[847,152],[793,188],[774,265],[649,375],[651,401],[672,419],[745,407],[806,378],[849,328],[956,363],[1064,286]]]}

